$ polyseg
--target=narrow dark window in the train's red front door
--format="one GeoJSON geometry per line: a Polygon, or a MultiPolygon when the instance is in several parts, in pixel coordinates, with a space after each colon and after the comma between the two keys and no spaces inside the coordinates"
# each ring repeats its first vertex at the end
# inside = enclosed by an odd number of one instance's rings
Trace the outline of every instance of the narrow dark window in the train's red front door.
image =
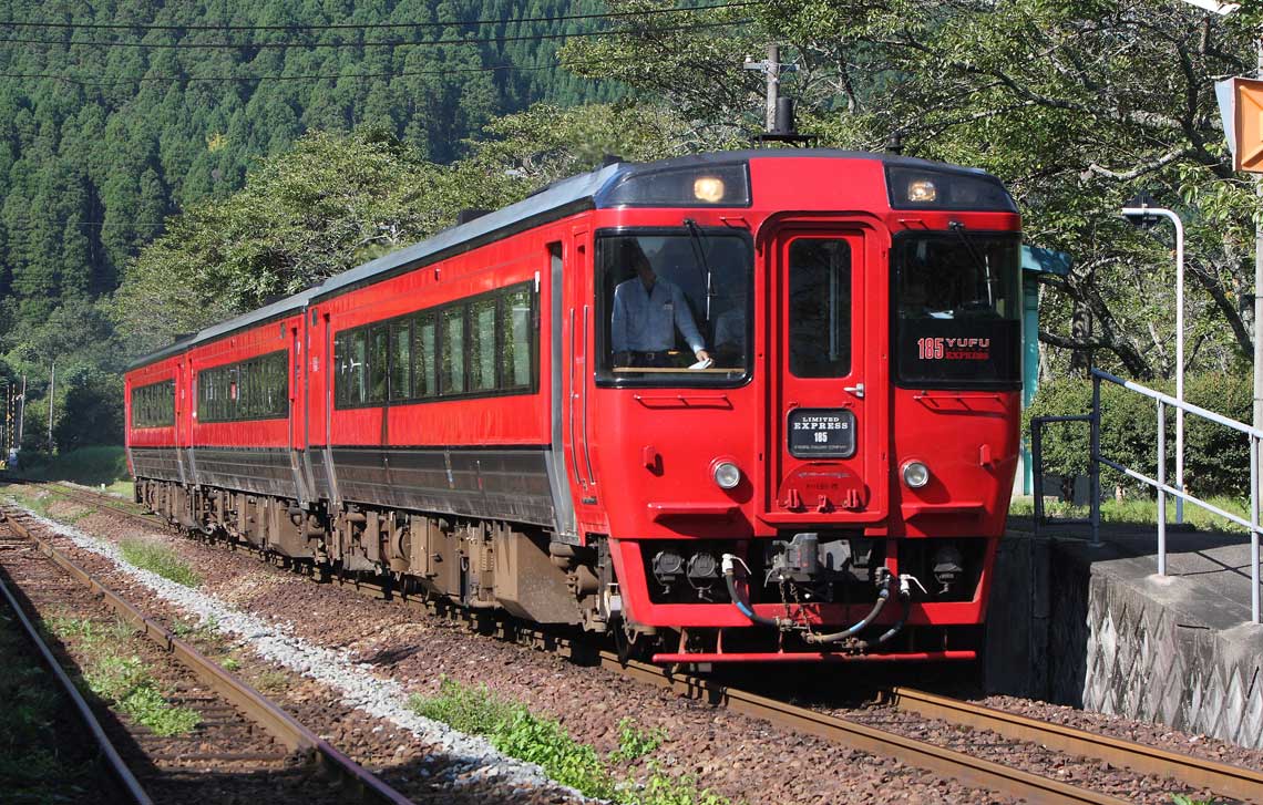
{"type": "Polygon", "coordinates": [[[844,240],[789,244],[789,371],[845,377],[851,371],[851,247],[844,240]]]}

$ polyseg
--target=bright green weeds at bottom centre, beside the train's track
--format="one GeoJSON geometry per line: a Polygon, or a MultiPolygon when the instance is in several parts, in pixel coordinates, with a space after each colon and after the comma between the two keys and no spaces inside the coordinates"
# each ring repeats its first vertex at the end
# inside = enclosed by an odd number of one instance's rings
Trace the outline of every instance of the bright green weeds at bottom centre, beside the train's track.
{"type": "Polygon", "coordinates": [[[558,722],[533,714],[524,704],[491,694],[485,685],[466,686],[451,679],[438,695],[408,699],[408,708],[469,734],[485,737],[509,757],[537,763],[551,779],[586,796],[621,805],[727,805],[727,800],[697,789],[691,775],[672,777],[655,762],[643,784],[619,779],[619,763],[644,758],[667,739],[664,731],[644,731],[632,719],[619,722],[619,748],[601,756],[580,743],[558,722]]]}

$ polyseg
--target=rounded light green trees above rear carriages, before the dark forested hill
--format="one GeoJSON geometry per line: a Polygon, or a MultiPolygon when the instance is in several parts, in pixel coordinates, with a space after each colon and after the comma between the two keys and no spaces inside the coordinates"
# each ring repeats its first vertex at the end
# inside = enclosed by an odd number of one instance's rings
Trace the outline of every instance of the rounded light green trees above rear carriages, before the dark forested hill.
{"type": "Polygon", "coordinates": [[[250,310],[451,226],[461,209],[503,207],[606,154],[685,153],[659,110],[537,105],[488,127],[451,165],[366,127],[313,132],[263,159],[245,187],[193,204],[126,269],[123,329],[150,347],[250,310]]]}

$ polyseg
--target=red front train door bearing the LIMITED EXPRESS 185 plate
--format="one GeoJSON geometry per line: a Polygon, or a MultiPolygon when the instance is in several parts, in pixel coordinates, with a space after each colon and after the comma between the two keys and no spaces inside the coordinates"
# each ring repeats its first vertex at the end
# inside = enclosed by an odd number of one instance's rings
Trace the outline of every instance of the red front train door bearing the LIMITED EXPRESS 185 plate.
{"type": "Polygon", "coordinates": [[[868,230],[841,223],[786,226],[772,241],[767,510],[789,522],[884,514],[878,250],[868,230]]]}

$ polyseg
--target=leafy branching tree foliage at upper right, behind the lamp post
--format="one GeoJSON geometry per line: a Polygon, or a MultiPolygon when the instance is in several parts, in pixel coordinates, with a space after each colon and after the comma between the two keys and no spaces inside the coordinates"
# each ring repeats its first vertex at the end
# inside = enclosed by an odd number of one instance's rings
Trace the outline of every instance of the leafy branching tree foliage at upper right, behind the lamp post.
{"type": "Polygon", "coordinates": [[[1151,0],[772,0],[748,13],[755,23],[733,35],[647,25],[571,43],[565,58],[711,127],[754,131],[762,76],[740,58],[781,42],[799,67],[782,86],[822,144],[873,150],[898,135],[904,153],[995,173],[1028,241],[1075,260],[1041,298],[1058,372],[1066,350],[1096,350],[1138,377],[1175,368],[1170,227],[1139,232],[1118,216],[1147,188],[1187,222],[1187,362],[1225,370],[1249,355],[1259,202],[1231,170],[1214,81],[1253,72],[1250,32],[1151,0]],[[1071,332],[1076,308],[1091,313],[1091,336],[1071,332]]]}

